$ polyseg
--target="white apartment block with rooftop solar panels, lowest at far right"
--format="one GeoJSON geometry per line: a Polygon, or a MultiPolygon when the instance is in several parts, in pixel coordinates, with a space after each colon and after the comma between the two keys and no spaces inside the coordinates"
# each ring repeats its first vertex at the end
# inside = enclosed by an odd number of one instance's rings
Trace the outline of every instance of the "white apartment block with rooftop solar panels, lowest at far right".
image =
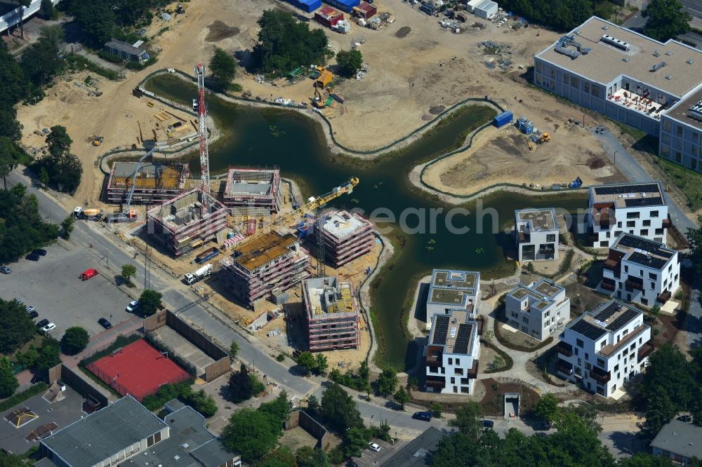
{"type": "Polygon", "coordinates": [[[644,313],[611,300],[566,326],[556,346],[556,370],[591,393],[609,398],[644,370],[654,350],[650,339],[644,313]]]}

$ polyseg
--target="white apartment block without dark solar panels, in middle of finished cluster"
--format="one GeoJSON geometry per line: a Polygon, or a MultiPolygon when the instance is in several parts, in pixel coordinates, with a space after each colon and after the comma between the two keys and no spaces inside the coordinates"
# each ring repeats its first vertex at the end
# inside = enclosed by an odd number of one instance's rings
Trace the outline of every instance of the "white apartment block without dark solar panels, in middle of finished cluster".
{"type": "Polygon", "coordinates": [[[505,296],[505,314],[512,327],[543,341],[570,320],[570,299],[552,280],[519,284],[505,296]]]}

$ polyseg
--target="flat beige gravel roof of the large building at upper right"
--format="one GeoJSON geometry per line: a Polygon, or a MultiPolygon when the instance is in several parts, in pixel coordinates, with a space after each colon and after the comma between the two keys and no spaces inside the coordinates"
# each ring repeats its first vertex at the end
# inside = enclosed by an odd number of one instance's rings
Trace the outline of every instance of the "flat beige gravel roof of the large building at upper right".
{"type": "Polygon", "coordinates": [[[702,81],[702,52],[683,43],[654,41],[594,16],[569,35],[583,48],[590,48],[590,52],[571,58],[557,52],[557,43],[554,43],[536,57],[591,81],[607,84],[625,75],[681,98],[702,81]],[[605,43],[602,41],[604,35],[625,43],[628,50],[605,43]],[[654,65],[661,62],[665,62],[664,67],[651,71],[654,65]],[[666,76],[671,78],[666,79],[666,76]]]}

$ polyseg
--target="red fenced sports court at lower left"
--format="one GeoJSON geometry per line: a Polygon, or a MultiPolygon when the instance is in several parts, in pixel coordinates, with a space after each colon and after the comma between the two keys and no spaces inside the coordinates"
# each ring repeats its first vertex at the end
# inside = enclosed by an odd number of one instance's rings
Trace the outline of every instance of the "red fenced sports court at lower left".
{"type": "Polygon", "coordinates": [[[158,391],[162,384],[190,378],[190,374],[143,339],[95,360],[88,370],[121,395],[131,394],[139,401],[158,391]]]}

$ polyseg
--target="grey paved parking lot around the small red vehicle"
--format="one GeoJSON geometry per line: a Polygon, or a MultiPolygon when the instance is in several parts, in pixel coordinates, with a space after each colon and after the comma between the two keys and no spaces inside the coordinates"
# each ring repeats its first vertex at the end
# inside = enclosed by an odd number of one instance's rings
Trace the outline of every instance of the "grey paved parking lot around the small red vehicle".
{"type": "Polygon", "coordinates": [[[104,330],[98,324],[102,317],[113,325],[133,318],[124,309],[131,299],[110,280],[100,275],[86,281],[79,279],[86,269],[100,271],[104,260],[97,251],[61,242],[46,247],[46,252],[38,262],[22,258],[7,264],[12,273],[0,274],[0,298],[18,298],[26,306],[34,306],[39,313],[34,321],[55,323],[51,336],[56,339],[75,325],[86,328],[91,336],[98,334],[104,330]]]}

